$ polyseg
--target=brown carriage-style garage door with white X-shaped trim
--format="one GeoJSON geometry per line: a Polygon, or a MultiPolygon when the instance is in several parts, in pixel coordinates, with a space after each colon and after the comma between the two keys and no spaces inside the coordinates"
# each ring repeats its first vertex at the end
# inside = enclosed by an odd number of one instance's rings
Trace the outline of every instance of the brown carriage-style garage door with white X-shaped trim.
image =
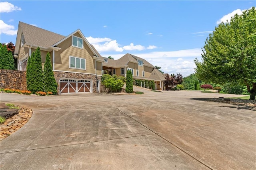
{"type": "Polygon", "coordinates": [[[60,79],[60,94],[91,93],[92,81],[85,79],[60,79]]]}

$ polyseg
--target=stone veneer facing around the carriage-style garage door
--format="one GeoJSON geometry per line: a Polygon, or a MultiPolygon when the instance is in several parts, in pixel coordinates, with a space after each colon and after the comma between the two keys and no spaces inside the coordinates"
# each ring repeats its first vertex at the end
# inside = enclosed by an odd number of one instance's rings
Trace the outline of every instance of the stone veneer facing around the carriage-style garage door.
{"type": "Polygon", "coordinates": [[[92,74],[82,74],[82,73],[68,73],[64,71],[53,71],[54,77],[58,83],[58,94],[60,94],[60,78],[67,79],[90,79],[92,80],[92,93],[96,93],[97,80],[100,80],[100,92],[104,91],[103,85],[101,84],[101,76],[92,75],[92,74]]]}

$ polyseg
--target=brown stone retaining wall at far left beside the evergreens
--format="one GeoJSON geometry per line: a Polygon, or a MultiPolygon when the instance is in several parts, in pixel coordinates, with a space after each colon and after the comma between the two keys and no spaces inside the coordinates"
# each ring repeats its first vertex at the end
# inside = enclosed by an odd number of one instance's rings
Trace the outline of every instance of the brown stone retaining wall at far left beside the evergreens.
{"type": "Polygon", "coordinates": [[[0,69],[0,88],[27,90],[26,71],[0,69]]]}

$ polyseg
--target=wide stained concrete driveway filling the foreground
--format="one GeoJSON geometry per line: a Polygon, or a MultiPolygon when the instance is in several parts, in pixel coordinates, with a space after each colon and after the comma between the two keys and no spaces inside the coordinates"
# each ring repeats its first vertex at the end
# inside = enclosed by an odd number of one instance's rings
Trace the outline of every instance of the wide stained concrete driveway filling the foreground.
{"type": "Polygon", "coordinates": [[[0,169],[256,169],[256,108],[199,91],[27,96],[33,110],[0,142],[0,169]]]}

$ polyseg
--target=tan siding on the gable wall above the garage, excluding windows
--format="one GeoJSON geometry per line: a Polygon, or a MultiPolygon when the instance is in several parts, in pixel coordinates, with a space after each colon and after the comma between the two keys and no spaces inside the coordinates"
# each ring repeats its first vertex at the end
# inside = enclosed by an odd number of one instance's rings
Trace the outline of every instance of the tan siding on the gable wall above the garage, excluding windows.
{"type": "MultiPolygon", "coordinates": [[[[74,36],[82,38],[79,33],[74,34],[74,36]]],[[[59,51],[55,51],[54,70],[95,74],[95,59],[92,58],[94,54],[86,42],[83,42],[83,45],[83,49],[72,47],[72,36],[70,36],[64,42],[59,43],[57,46],[61,49],[59,51]],[[86,70],[70,68],[70,56],[86,59],[86,70]]]]}

